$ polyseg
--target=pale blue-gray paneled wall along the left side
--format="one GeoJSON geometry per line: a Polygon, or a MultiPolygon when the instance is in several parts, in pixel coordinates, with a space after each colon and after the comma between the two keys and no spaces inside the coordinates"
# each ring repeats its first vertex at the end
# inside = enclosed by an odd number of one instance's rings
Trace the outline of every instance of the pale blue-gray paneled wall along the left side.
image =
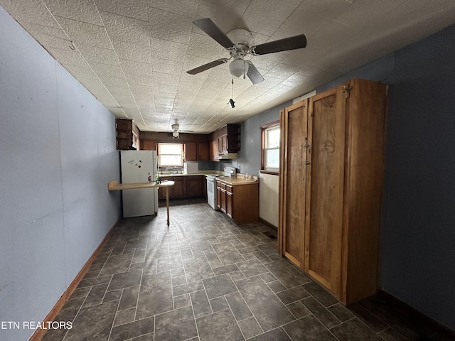
{"type": "Polygon", "coordinates": [[[38,322],[120,217],[115,121],[1,7],[0,46],[0,320],[38,322]]]}

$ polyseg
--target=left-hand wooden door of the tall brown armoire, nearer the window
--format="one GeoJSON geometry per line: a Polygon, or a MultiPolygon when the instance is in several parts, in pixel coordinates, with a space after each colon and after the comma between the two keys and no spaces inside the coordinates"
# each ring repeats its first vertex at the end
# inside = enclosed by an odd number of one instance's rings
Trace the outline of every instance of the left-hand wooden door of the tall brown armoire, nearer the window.
{"type": "Polygon", "coordinates": [[[280,117],[279,254],[303,269],[308,100],[282,110],[280,117]]]}

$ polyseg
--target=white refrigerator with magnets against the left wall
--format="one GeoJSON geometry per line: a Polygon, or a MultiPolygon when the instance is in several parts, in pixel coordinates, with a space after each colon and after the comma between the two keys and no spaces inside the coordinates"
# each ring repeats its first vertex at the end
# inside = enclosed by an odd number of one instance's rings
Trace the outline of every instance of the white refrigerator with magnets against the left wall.
{"type": "MultiPolygon", "coordinates": [[[[146,183],[150,173],[158,173],[156,151],[120,151],[122,183],[146,183]]],[[[158,212],[158,188],[122,190],[123,217],[155,215],[158,212]]]]}

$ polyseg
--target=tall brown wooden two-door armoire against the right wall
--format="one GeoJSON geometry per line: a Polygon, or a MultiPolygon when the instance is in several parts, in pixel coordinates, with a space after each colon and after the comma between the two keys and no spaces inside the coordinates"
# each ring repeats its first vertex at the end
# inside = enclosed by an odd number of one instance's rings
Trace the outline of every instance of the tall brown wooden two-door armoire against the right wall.
{"type": "Polygon", "coordinates": [[[349,80],[280,113],[279,253],[345,305],[378,285],[386,96],[349,80]]]}

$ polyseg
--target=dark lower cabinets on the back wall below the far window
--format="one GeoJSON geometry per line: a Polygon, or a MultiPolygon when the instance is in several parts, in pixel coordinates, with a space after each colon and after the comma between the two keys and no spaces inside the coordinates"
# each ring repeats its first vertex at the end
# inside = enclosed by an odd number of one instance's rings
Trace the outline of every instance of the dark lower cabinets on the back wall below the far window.
{"type": "MultiPolygon", "coordinates": [[[[178,175],[166,176],[162,180],[173,181],[174,185],[169,187],[169,198],[183,197],[204,197],[207,195],[205,175],[178,175]]],[[[159,199],[166,199],[166,189],[158,190],[159,199]]]]}

